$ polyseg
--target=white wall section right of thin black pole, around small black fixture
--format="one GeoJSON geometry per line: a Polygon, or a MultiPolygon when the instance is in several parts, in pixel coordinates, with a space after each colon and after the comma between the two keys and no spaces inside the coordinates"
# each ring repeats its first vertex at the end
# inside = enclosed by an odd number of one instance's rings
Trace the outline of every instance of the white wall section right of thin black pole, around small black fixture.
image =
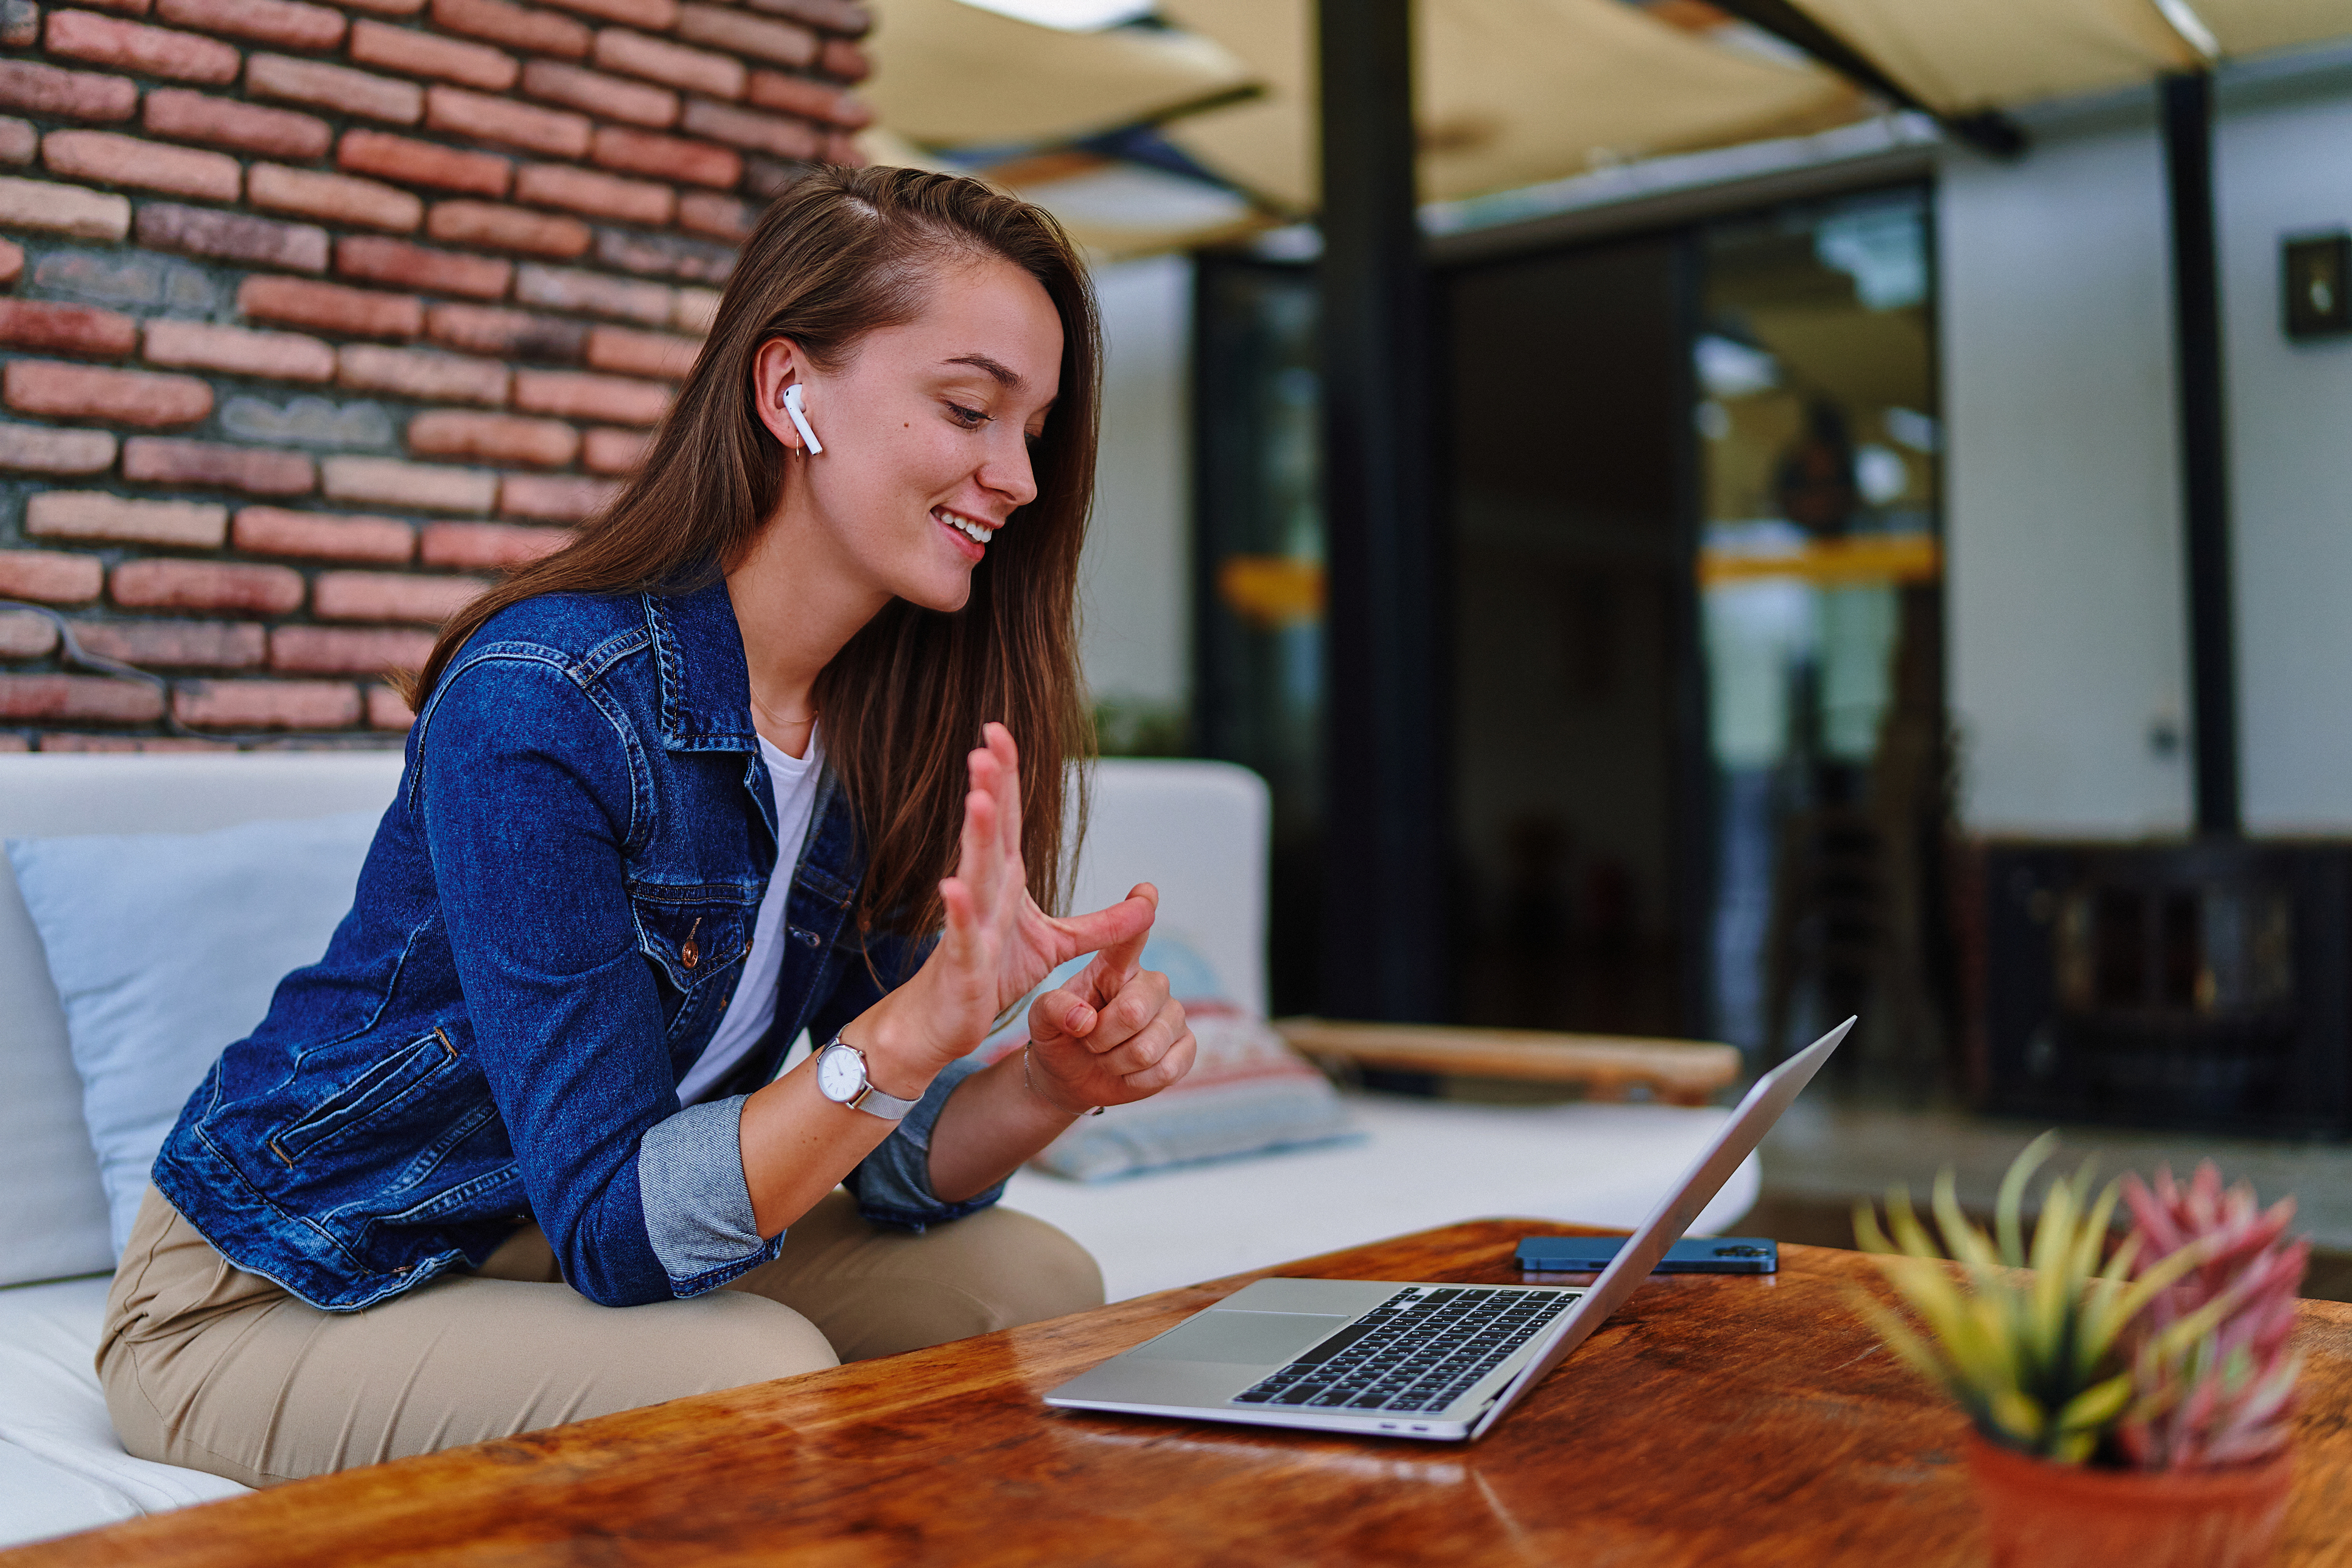
{"type": "Polygon", "coordinates": [[[2279,237],[2352,228],[2352,94],[2216,134],[2246,827],[2352,830],[2352,339],[2288,343],[2279,237]]]}

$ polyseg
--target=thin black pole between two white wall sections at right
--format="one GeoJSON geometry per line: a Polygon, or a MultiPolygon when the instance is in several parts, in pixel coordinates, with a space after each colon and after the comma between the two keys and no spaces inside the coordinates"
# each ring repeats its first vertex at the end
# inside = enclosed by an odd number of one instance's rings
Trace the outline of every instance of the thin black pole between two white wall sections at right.
{"type": "Polygon", "coordinates": [[[2237,837],[2237,635],[2230,599],[2230,449],[2213,240],[2213,78],[2161,82],[2173,216],[2173,339],[2180,397],[2180,520],[2190,597],[2190,731],[2197,832],[2237,837]]]}

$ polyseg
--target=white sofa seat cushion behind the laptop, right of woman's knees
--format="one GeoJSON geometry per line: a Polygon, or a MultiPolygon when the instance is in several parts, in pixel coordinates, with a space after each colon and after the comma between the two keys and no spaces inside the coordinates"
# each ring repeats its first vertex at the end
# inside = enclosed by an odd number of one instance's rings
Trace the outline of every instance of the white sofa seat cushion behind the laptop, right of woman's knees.
{"type": "MultiPolygon", "coordinates": [[[[1110,1182],[1023,1168],[1004,1204],[1065,1229],[1103,1265],[1110,1300],[1127,1300],[1456,1220],[1522,1215],[1632,1229],[1731,1114],[1345,1100],[1367,1133],[1357,1143],[1110,1182]]],[[[1719,1234],[1755,1206],[1757,1190],[1750,1154],[1691,1234],[1719,1234]]]]}

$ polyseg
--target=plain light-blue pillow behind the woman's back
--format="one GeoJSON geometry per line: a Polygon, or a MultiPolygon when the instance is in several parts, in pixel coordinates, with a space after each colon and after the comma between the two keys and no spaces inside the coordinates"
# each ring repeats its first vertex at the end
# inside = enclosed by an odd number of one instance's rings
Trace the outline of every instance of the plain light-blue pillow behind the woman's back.
{"type": "Polygon", "coordinates": [[[198,1081],[327,952],[379,816],[7,842],[66,1009],[113,1255],[198,1081]]]}

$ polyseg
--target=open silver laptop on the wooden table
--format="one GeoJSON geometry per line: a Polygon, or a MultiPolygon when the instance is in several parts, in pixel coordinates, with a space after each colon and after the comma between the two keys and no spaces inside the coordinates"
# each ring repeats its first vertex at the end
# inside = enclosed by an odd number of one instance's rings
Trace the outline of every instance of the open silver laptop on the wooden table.
{"type": "Polygon", "coordinates": [[[1484,1436],[1649,1279],[1851,1027],[1849,1018],[1757,1079],[1689,1175],[1585,1288],[1261,1279],[1044,1401],[1254,1427],[1484,1436]]]}

